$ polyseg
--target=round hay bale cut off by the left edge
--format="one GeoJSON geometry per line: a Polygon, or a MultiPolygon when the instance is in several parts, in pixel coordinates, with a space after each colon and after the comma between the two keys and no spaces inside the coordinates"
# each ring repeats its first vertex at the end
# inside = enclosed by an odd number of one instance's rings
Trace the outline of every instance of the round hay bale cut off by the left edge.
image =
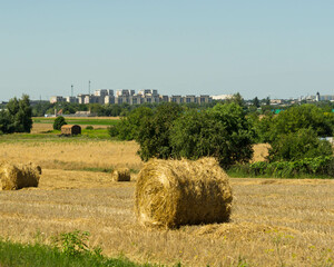
{"type": "Polygon", "coordinates": [[[33,164],[3,164],[0,168],[0,189],[18,190],[23,187],[38,187],[41,168],[33,164]]]}

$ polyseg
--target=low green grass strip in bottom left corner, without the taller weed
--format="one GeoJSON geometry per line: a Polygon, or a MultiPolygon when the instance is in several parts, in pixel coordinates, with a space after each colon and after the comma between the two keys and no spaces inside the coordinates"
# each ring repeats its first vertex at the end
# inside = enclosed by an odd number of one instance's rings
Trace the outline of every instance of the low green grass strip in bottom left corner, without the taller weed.
{"type": "Polygon", "coordinates": [[[107,258],[99,253],[84,251],[70,254],[57,247],[40,244],[23,245],[0,239],[1,267],[137,267],[138,265],[125,257],[107,258]]]}

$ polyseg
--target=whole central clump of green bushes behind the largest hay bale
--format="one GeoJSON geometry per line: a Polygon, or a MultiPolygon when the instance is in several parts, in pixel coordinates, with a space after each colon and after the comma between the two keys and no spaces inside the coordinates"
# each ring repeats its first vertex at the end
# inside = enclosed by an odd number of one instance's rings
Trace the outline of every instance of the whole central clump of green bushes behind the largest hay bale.
{"type": "Polygon", "coordinates": [[[135,139],[143,160],[212,156],[227,167],[248,161],[253,154],[253,131],[236,101],[205,110],[176,103],[159,105],[155,110],[138,108],[109,134],[121,140],[135,139]]]}

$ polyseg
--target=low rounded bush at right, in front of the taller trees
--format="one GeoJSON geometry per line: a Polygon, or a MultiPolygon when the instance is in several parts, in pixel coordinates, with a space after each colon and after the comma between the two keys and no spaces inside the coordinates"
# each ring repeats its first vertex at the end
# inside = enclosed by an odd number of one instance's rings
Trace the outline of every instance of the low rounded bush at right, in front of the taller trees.
{"type": "Polygon", "coordinates": [[[326,140],[320,140],[312,129],[299,129],[297,132],[278,136],[272,142],[269,149],[269,161],[298,160],[303,158],[315,158],[331,156],[332,146],[326,140]]]}

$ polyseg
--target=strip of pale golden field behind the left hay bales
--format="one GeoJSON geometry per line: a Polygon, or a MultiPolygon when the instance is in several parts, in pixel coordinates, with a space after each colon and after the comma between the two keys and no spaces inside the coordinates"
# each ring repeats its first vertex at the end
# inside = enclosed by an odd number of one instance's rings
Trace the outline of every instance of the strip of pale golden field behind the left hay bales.
{"type": "Polygon", "coordinates": [[[42,169],[87,169],[127,167],[140,169],[134,141],[65,140],[8,142],[0,146],[0,160],[35,162],[42,169]]]}

